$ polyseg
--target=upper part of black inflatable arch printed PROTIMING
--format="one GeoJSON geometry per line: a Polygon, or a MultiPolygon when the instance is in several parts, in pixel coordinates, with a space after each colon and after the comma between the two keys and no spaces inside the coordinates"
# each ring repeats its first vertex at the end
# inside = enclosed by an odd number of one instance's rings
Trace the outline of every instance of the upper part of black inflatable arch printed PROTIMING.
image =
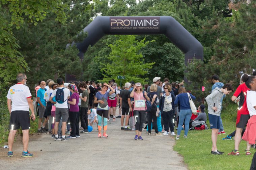
{"type": "Polygon", "coordinates": [[[82,59],[89,45],[104,35],[164,34],[185,54],[185,64],[203,59],[203,46],[171,16],[98,16],[84,28],[87,37],[77,43],[82,59]]]}

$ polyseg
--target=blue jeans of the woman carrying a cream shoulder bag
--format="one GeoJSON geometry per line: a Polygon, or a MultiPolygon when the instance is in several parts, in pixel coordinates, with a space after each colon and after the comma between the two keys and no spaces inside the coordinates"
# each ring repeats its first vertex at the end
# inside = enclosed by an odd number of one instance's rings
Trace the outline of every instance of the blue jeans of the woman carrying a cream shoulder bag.
{"type": "Polygon", "coordinates": [[[184,120],[185,120],[185,131],[184,131],[184,135],[185,135],[185,136],[188,136],[188,132],[189,132],[189,121],[190,121],[191,116],[192,116],[192,111],[191,111],[191,109],[188,109],[188,110],[180,110],[180,111],[179,111],[179,126],[178,126],[177,135],[180,135],[181,128],[182,128],[183,122],[184,122],[184,120]]]}

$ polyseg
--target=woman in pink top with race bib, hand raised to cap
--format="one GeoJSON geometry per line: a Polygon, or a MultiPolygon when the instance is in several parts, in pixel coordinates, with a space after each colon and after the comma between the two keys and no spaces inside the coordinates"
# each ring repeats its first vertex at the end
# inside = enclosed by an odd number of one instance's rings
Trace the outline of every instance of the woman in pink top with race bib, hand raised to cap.
{"type": "Polygon", "coordinates": [[[134,98],[134,108],[133,108],[133,113],[135,116],[135,140],[143,140],[141,137],[141,131],[142,131],[142,123],[146,111],[146,100],[144,96],[146,97],[147,100],[149,100],[149,97],[147,96],[147,93],[144,92],[143,96],[143,89],[141,87],[140,83],[135,84],[135,88],[130,94],[130,97],[134,98]]]}

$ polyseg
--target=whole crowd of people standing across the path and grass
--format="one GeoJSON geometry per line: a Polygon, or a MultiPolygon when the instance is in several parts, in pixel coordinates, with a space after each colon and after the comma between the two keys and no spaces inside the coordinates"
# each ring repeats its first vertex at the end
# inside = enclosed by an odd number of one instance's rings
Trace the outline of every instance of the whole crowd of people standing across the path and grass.
{"type": "MultiPolygon", "coordinates": [[[[235,147],[228,155],[239,155],[239,143],[242,138],[248,141],[246,155],[251,155],[251,144],[255,144],[256,135],[253,130],[256,126],[256,78],[243,74],[240,85],[231,97],[238,103],[237,121],[235,132],[227,135],[223,140],[234,136],[235,147]],[[246,128],[247,127],[247,128],[246,128]]],[[[223,84],[217,75],[211,77],[214,85],[205,100],[208,105],[209,127],[211,129],[212,150],[211,154],[222,155],[217,149],[219,134],[225,134],[221,119],[223,98],[233,91],[231,84],[223,84]]],[[[108,121],[120,119],[121,130],[135,131],[135,140],[143,140],[142,131],[147,129],[147,134],[156,136],[173,135],[177,125],[176,140],[188,138],[189,130],[208,129],[205,105],[198,107],[198,113],[192,112],[191,102],[195,94],[186,91],[183,81],[169,83],[165,78],[155,77],[152,84],[134,81],[126,82],[123,87],[117,86],[115,80],[108,83],[95,84],[94,81],[65,83],[63,79],[39,81],[35,87],[37,109],[34,111],[31,93],[26,86],[27,77],[24,74],[17,76],[18,84],[10,87],[7,95],[7,105],[10,112],[10,134],[8,138],[8,157],[12,157],[12,145],[17,129],[23,132],[22,157],[31,157],[28,147],[28,130],[31,119],[38,115],[38,133],[52,134],[54,140],[68,141],[79,138],[80,134],[88,133],[88,127],[97,123],[98,137],[109,137],[107,134],[108,121]],[[116,117],[116,110],[119,115],[116,117]],[[124,121],[125,118],[125,121],[124,121]],[[80,123],[81,122],[81,123],[80,123]],[[102,135],[103,127],[103,135],[102,135]],[[66,136],[68,135],[68,136],[66,136]]]]}

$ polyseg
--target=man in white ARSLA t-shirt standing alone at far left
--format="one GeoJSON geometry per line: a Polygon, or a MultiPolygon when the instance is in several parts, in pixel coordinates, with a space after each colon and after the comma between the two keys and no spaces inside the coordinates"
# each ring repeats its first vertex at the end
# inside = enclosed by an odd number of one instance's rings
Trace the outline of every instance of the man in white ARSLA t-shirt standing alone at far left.
{"type": "Polygon", "coordinates": [[[18,74],[17,84],[10,87],[7,93],[7,106],[10,113],[10,133],[8,137],[9,152],[8,157],[12,157],[12,145],[14,137],[18,129],[22,129],[23,134],[23,152],[22,157],[32,157],[33,154],[28,152],[30,118],[35,120],[33,103],[31,100],[31,93],[28,86],[26,86],[27,76],[25,74],[18,74]],[[31,110],[31,117],[29,116],[29,109],[31,110]]]}

